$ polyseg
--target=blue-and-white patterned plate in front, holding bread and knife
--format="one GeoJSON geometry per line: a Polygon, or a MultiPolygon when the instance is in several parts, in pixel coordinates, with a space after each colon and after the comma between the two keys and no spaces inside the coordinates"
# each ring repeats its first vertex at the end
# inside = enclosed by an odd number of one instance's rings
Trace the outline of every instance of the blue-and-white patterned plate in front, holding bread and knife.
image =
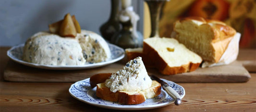
{"type": "MultiPolygon", "coordinates": [[[[172,82],[162,79],[167,82],[176,92],[179,93],[181,98],[185,95],[185,90],[182,86],[172,82]]],[[[87,104],[107,108],[107,109],[115,109],[115,110],[146,110],[159,108],[163,106],[170,105],[174,102],[174,100],[162,89],[161,94],[152,99],[147,99],[145,102],[136,105],[122,105],[118,102],[109,102],[105,100],[101,100],[96,97],[96,88],[91,88],[90,86],[90,78],[87,78],[82,81],[77,81],[71,85],[69,88],[69,93],[75,99],[85,102],[87,104]]],[[[174,103],[173,103],[174,104],[174,103]]]]}

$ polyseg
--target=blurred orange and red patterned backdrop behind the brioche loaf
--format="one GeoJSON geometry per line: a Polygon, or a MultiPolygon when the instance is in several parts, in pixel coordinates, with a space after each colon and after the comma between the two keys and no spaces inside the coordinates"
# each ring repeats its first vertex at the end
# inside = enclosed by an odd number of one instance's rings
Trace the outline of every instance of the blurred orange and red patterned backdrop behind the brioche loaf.
{"type": "Polygon", "coordinates": [[[173,22],[187,16],[221,20],[242,34],[240,48],[256,49],[256,0],[170,0],[162,9],[160,37],[170,37],[173,22]]]}

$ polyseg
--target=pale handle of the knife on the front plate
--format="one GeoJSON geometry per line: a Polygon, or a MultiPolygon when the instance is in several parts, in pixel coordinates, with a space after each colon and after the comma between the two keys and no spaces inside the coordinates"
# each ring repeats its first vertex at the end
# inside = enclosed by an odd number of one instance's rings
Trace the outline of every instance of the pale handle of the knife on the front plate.
{"type": "Polygon", "coordinates": [[[164,90],[175,100],[174,104],[179,105],[182,103],[181,96],[171,88],[171,86],[163,86],[164,90]]]}

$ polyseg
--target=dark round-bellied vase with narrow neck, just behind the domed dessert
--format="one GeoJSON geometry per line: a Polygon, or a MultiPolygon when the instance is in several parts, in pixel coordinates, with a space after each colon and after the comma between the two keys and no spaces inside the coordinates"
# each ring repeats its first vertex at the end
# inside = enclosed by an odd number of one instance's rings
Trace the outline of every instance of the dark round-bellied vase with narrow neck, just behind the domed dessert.
{"type": "Polygon", "coordinates": [[[118,31],[120,31],[120,24],[117,20],[117,14],[119,9],[119,0],[111,0],[111,14],[107,22],[102,24],[99,31],[102,37],[110,41],[111,37],[118,31]]]}

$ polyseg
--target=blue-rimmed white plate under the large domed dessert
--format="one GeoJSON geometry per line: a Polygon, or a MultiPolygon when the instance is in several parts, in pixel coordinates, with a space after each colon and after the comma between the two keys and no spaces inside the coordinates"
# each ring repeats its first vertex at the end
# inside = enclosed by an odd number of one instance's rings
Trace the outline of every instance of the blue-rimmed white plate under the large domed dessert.
{"type": "Polygon", "coordinates": [[[20,44],[18,46],[12,47],[10,50],[7,51],[7,55],[13,60],[18,63],[35,67],[41,69],[51,69],[51,70],[78,70],[78,69],[89,69],[89,68],[96,68],[104,65],[111,64],[113,62],[119,61],[124,57],[124,50],[116,45],[109,44],[110,51],[111,51],[111,59],[104,62],[98,62],[93,64],[85,64],[85,65],[66,65],[66,66],[54,66],[54,65],[43,65],[43,64],[36,64],[31,62],[26,62],[22,60],[23,56],[23,48],[24,44],[20,44]]]}

